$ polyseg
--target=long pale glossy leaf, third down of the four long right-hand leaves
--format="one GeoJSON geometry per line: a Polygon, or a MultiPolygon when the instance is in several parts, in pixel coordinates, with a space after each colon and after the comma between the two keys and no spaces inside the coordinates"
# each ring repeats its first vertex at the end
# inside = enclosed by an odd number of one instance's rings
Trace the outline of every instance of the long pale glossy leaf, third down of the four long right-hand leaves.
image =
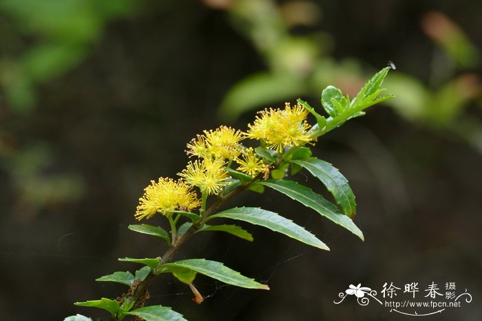
{"type": "MultiPolygon", "coordinates": [[[[291,237],[302,243],[318,247],[322,250],[328,250],[328,247],[313,234],[306,231],[300,225],[293,223],[289,219],[278,215],[275,212],[269,210],[263,210],[261,208],[231,208],[231,210],[224,210],[217,214],[213,214],[206,219],[216,219],[217,217],[225,217],[227,219],[237,219],[239,221],[245,221],[254,225],[260,225],[264,228],[269,228],[274,232],[279,232],[286,236],[291,237]]],[[[344,215],[344,217],[346,217],[344,215]]]]}

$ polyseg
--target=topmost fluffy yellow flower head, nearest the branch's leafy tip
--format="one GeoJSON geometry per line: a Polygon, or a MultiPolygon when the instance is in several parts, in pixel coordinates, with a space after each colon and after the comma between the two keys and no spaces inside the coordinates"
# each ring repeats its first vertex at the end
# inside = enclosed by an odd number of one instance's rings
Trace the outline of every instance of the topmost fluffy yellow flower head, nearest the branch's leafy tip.
{"type": "Polygon", "coordinates": [[[287,146],[303,146],[316,140],[308,135],[310,125],[306,122],[308,111],[300,104],[291,107],[285,103],[284,109],[264,109],[248,125],[245,135],[255,140],[264,140],[268,148],[281,153],[287,146]]]}

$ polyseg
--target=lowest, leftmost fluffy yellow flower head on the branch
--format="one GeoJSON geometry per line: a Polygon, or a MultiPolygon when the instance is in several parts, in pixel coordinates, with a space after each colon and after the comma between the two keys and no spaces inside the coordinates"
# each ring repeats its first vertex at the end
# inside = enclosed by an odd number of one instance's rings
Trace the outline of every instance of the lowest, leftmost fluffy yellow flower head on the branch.
{"type": "Polygon", "coordinates": [[[191,211],[200,206],[196,192],[180,179],[160,177],[157,183],[151,181],[144,191],[134,214],[138,220],[150,219],[156,212],[169,216],[173,210],[191,211]]]}

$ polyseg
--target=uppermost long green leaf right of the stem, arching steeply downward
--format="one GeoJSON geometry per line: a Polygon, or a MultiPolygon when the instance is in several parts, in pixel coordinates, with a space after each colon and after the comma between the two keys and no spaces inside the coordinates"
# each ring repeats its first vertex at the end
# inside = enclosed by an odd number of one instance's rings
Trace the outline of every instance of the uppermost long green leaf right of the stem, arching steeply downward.
{"type": "Polygon", "coordinates": [[[303,166],[313,176],[322,181],[324,186],[326,186],[335,198],[336,203],[342,208],[343,212],[353,219],[357,206],[355,203],[355,195],[348,185],[348,180],[339,173],[337,168],[315,157],[293,160],[291,162],[303,166]]]}

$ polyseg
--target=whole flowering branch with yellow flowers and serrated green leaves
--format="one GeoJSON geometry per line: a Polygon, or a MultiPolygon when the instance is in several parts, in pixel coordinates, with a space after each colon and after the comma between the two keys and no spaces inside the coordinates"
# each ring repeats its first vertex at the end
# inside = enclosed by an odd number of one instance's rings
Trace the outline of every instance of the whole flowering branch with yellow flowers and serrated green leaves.
{"type": "MultiPolygon", "coordinates": [[[[347,120],[364,115],[363,110],[367,107],[391,98],[390,95],[379,98],[379,94],[385,90],[379,87],[388,69],[384,68],[375,74],[353,100],[343,96],[341,91],[333,86],[324,89],[322,105],[328,113],[327,118],[319,115],[306,102],[298,100],[293,107],[286,103],[284,109],[271,108],[261,111],[254,122],[248,125],[246,133],[220,126],[218,129],[197,135],[187,144],[187,154],[197,159],[189,161],[186,168],[178,173],[179,179],[160,177],[158,181],[151,181],[145,188],[144,195],[140,197],[134,214],[138,220],[150,219],[158,213],[161,214],[169,221],[170,234],[153,225],[129,225],[129,229],[135,232],[164,239],[168,245],[166,252],[157,258],[119,259],[146,266],[136,271],[135,275],[129,272],[115,272],[97,280],[128,285],[127,293],[116,300],[102,298],[76,302],[76,305],[105,309],[111,313],[113,320],[122,320],[127,315],[147,321],[159,318],[185,320],[180,313],[172,311],[169,307],[145,307],[149,299],[149,285],[157,276],[165,273],[172,274],[189,286],[195,296],[194,301],[198,304],[204,299],[193,286],[197,274],[204,274],[238,287],[269,289],[267,285],[242,276],[220,262],[204,258],[173,261],[182,246],[198,232],[222,231],[253,241],[253,236],[238,225],[207,224],[219,218],[260,225],[307,245],[329,250],[326,244],[311,232],[275,212],[245,207],[218,212],[224,203],[246,190],[261,193],[266,187],[277,190],[363,240],[362,231],[353,223],[355,195],[348,185],[348,180],[328,162],[312,157],[311,150],[306,145],[313,145],[317,137],[341,126],[347,120]],[[310,113],[315,116],[314,126],[307,121],[310,113]],[[247,139],[258,141],[259,146],[244,146],[242,141],[247,139]],[[235,166],[235,169],[231,166],[235,166]],[[324,199],[310,188],[287,179],[302,169],[307,170],[326,186],[335,203],[324,199]],[[208,207],[209,197],[216,199],[208,207]],[[196,209],[199,214],[195,212],[196,209]],[[186,218],[191,221],[186,221],[186,218]],[[181,219],[184,221],[182,224],[181,219]]],[[[65,320],[90,319],[77,315],[65,320]]]]}

